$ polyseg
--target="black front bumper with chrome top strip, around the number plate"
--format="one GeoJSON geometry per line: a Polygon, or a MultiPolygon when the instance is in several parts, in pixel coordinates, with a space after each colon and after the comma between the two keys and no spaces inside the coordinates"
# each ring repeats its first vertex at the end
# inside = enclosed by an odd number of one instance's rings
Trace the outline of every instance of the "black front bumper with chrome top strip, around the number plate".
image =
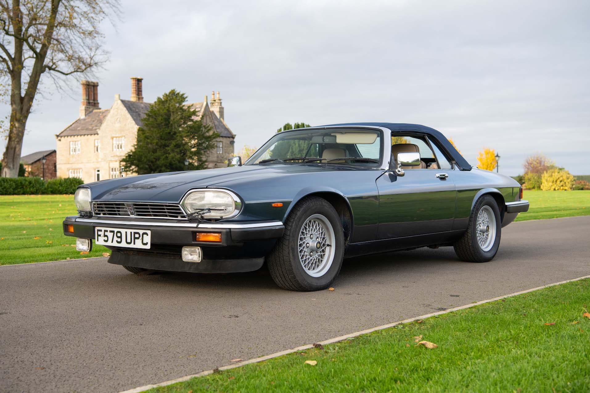
{"type": "Polygon", "coordinates": [[[246,272],[260,268],[264,257],[283,236],[280,221],[266,222],[215,222],[193,223],[171,220],[130,220],[115,217],[65,217],[63,232],[66,236],[94,239],[94,228],[149,229],[152,233],[149,250],[111,247],[110,263],[145,267],[146,269],[182,272],[246,272]],[[68,226],[74,232],[68,232],[68,226]],[[198,232],[221,233],[221,242],[197,242],[198,232]],[[183,246],[200,246],[203,260],[184,262],[183,246]]]}

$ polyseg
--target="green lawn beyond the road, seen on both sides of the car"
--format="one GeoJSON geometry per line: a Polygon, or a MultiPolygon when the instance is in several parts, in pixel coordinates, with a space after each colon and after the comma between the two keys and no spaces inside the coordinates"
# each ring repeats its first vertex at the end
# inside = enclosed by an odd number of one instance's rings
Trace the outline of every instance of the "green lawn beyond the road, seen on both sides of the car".
{"type": "MultiPolygon", "coordinates": [[[[516,221],[590,214],[590,191],[528,191],[529,212],[516,221]]],[[[0,196],[0,265],[102,256],[109,252],[94,245],[80,255],[73,237],[62,234],[65,216],[76,214],[71,195],[0,196]],[[35,239],[36,238],[36,239],[35,239]]]]}

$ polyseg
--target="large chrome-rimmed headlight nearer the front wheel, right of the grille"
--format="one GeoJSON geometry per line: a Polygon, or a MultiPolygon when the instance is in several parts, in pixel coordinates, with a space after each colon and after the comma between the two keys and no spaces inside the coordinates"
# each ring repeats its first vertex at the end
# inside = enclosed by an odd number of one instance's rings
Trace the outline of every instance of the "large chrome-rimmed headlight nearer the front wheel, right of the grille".
{"type": "Polygon", "coordinates": [[[240,198],[231,191],[195,190],[186,194],[182,201],[187,214],[203,210],[202,216],[209,219],[222,219],[237,216],[241,210],[240,198]],[[206,209],[211,210],[207,212],[206,209]]]}

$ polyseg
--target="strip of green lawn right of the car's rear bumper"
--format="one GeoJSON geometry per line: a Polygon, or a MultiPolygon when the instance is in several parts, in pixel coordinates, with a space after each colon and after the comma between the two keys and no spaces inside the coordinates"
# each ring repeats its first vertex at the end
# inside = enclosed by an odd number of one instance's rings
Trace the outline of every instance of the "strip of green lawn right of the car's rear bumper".
{"type": "Polygon", "coordinates": [[[590,190],[525,190],[523,199],[529,201],[529,211],[520,213],[515,221],[590,215],[590,190]]]}

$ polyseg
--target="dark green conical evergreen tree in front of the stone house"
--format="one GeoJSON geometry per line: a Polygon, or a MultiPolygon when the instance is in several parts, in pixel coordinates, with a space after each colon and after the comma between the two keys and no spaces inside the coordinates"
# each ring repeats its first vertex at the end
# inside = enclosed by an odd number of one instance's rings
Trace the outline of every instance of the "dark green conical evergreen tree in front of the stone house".
{"type": "Polygon", "coordinates": [[[176,90],[156,99],[137,129],[137,142],[123,159],[125,171],[146,174],[207,168],[207,154],[219,134],[195,120],[196,111],[185,103],[186,95],[176,90]]]}

